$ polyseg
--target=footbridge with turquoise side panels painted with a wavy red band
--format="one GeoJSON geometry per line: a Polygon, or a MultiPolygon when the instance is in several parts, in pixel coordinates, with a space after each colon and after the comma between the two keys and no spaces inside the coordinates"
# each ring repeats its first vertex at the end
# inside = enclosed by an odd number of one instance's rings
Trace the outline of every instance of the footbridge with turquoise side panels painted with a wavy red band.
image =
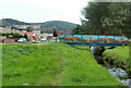
{"type": "Polygon", "coordinates": [[[105,35],[61,35],[60,41],[71,46],[117,47],[128,45],[129,38],[105,35]]]}

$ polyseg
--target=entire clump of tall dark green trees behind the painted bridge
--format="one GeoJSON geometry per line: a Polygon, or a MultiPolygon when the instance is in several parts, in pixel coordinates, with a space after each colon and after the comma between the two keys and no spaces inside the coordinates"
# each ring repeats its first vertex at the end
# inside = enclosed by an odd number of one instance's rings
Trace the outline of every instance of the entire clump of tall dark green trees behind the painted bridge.
{"type": "Polygon", "coordinates": [[[90,2],[82,11],[82,24],[86,34],[124,35],[131,34],[131,3],[90,2]]]}

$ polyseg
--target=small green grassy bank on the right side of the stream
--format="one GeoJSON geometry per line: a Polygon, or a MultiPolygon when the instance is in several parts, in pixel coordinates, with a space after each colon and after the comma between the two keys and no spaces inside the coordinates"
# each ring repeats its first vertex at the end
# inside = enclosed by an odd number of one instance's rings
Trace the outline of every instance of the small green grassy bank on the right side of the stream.
{"type": "Polygon", "coordinates": [[[104,59],[110,65],[126,68],[129,73],[131,73],[130,49],[131,49],[131,46],[117,47],[115,49],[106,50],[104,52],[104,56],[105,56],[104,59]]]}

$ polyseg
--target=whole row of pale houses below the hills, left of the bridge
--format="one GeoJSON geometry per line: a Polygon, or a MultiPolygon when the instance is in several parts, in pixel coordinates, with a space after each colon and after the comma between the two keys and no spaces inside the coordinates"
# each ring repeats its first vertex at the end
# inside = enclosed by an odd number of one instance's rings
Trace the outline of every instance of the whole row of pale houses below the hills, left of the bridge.
{"type": "MultiPolygon", "coordinates": [[[[17,33],[20,35],[27,35],[29,41],[39,40],[47,37],[53,37],[53,27],[43,29],[40,25],[12,25],[7,22],[0,22],[0,33],[17,33]],[[29,29],[29,30],[28,30],[29,29]]],[[[69,33],[58,32],[58,35],[66,35],[69,33]]],[[[2,37],[0,41],[5,38],[2,37]]]]}

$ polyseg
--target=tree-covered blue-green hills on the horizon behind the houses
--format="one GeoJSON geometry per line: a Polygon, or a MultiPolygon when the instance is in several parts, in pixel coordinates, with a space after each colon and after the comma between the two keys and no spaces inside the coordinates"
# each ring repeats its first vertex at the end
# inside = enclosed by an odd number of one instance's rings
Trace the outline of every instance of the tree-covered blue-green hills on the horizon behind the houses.
{"type": "Polygon", "coordinates": [[[74,23],[69,23],[69,22],[63,22],[63,21],[49,21],[49,22],[45,22],[45,23],[25,23],[25,22],[20,22],[17,20],[13,20],[13,18],[2,18],[1,21],[8,22],[8,23],[14,24],[14,25],[40,25],[41,28],[56,27],[57,30],[67,30],[67,32],[72,30],[78,25],[74,23]]]}

